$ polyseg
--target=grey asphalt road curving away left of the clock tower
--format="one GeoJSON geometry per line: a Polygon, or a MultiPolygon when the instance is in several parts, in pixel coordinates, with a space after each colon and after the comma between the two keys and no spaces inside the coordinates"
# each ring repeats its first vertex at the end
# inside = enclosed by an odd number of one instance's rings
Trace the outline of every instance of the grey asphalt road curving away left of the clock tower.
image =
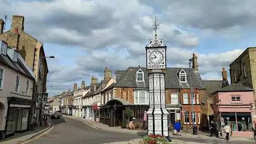
{"type": "Polygon", "coordinates": [[[61,119],[52,121],[55,122],[55,127],[52,131],[36,140],[28,142],[27,144],[99,144],[105,142],[129,141],[134,138],[140,138],[138,135],[97,130],[81,121],[66,117],[61,117],[61,119]]]}

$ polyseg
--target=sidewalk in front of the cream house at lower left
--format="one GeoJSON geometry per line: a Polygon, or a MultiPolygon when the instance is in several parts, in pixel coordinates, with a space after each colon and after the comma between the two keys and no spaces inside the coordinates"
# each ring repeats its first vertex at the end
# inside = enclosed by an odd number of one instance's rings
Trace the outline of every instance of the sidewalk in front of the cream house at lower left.
{"type": "Polygon", "coordinates": [[[5,140],[0,141],[1,144],[18,144],[24,141],[27,141],[35,136],[40,135],[41,133],[47,131],[52,127],[52,123],[48,123],[48,127],[35,127],[35,131],[26,131],[22,133],[18,133],[17,135],[6,138],[5,140]]]}

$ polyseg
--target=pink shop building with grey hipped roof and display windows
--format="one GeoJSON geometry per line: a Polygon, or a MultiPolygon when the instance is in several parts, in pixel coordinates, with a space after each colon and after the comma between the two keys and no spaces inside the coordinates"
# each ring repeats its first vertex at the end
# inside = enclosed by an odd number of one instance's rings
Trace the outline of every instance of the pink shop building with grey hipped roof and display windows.
{"type": "Polygon", "coordinates": [[[252,137],[254,128],[253,90],[242,83],[234,83],[213,92],[214,117],[221,123],[229,123],[232,136],[252,137]]]}

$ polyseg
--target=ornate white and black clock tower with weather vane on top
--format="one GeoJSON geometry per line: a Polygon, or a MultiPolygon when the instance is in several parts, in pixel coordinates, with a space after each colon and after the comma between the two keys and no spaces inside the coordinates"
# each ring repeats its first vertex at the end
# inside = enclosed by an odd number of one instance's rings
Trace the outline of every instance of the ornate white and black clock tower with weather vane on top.
{"type": "Polygon", "coordinates": [[[168,115],[165,107],[166,46],[156,36],[146,46],[146,67],[149,73],[149,110],[147,111],[147,135],[158,134],[169,139],[168,115]]]}

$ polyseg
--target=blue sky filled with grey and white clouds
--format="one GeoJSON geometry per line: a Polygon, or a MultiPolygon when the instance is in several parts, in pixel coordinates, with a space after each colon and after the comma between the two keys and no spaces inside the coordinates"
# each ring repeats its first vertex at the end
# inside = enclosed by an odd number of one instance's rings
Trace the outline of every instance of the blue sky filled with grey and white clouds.
{"type": "Polygon", "coordinates": [[[189,67],[198,56],[203,80],[222,80],[225,67],[247,47],[254,47],[256,1],[172,0],[0,0],[0,18],[24,16],[24,31],[43,43],[47,91],[58,95],[73,83],[90,85],[104,78],[104,68],[146,66],[145,46],[157,36],[167,46],[168,67],[189,67]]]}

